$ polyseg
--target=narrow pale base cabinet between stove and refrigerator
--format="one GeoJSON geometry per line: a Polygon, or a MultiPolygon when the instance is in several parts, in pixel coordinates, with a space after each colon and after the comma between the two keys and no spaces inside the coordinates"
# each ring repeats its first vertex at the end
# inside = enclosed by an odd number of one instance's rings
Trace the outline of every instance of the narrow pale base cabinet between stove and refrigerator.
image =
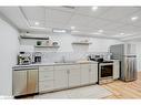
{"type": "Polygon", "coordinates": [[[113,80],[120,77],[120,62],[118,60],[113,61],[113,80]]]}

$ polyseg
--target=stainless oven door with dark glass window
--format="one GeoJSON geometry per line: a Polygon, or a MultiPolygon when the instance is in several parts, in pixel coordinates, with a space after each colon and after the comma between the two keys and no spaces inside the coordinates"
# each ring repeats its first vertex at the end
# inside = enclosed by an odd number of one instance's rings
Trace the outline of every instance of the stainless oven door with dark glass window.
{"type": "Polygon", "coordinates": [[[99,81],[113,77],[113,63],[100,63],[99,81]]]}

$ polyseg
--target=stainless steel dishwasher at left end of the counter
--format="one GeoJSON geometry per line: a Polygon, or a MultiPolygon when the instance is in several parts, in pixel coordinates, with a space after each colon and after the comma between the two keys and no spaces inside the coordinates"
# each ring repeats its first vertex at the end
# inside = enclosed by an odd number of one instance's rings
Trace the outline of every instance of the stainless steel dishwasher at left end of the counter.
{"type": "Polygon", "coordinates": [[[20,66],[13,69],[12,94],[21,96],[38,93],[38,67],[20,66]]]}

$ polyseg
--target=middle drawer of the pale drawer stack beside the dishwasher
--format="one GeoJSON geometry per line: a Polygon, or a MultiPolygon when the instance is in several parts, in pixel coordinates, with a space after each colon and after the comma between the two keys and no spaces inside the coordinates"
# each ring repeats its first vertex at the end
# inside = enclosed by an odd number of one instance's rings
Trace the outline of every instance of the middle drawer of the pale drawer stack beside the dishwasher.
{"type": "Polygon", "coordinates": [[[39,72],[39,81],[53,80],[53,77],[54,77],[53,71],[39,72]]]}

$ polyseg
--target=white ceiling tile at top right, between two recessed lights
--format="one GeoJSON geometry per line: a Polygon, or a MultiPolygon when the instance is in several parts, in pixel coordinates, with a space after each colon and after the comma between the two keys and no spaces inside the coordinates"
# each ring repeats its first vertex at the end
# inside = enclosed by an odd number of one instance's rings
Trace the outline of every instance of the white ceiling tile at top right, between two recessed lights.
{"type": "Polygon", "coordinates": [[[124,18],[129,14],[132,14],[133,12],[138,11],[140,8],[133,8],[133,7],[112,7],[109,9],[109,11],[104,14],[101,14],[100,18],[108,19],[108,20],[120,20],[121,18],[124,18]]]}

